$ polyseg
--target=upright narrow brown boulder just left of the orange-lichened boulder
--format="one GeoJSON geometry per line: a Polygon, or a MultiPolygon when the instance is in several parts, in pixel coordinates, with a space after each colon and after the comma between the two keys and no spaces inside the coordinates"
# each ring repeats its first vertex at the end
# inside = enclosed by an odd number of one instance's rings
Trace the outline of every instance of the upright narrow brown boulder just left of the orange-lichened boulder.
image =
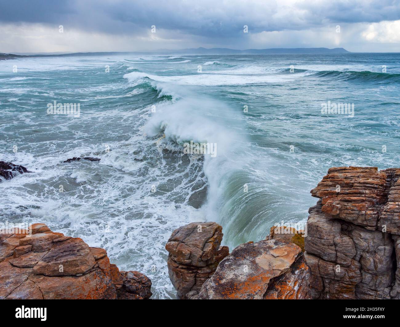
{"type": "Polygon", "coordinates": [[[165,248],[169,252],[168,274],[178,299],[196,296],[229,254],[227,246],[220,246],[223,235],[215,222],[194,222],[174,230],[165,248]]]}

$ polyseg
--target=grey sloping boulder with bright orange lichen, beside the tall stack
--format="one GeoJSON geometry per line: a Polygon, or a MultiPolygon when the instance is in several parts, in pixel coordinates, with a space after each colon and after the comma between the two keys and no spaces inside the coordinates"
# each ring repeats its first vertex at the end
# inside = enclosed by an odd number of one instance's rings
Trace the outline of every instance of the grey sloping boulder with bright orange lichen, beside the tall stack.
{"type": "Polygon", "coordinates": [[[204,283],[198,299],[310,299],[300,247],[278,240],[236,247],[204,283]]]}

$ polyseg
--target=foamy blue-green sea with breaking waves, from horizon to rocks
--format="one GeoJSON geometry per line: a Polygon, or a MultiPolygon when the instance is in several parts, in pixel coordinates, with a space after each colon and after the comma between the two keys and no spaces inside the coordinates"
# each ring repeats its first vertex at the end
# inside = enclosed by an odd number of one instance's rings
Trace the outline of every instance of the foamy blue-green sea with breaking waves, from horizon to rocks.
{"type": "Polygon", "coordinates": [[[398,166],[399,63],[398,54],[1,61],[0,160],[33,171],[0,183],[1,221],[45,222],[106,248],[120,269],[150,277],[155,298],[174,298],[164,246],[179,226],[216,221],[232,249],[275,223],[304,222],[329,167],[398,166]],[[80,103],[79,117],[48,115],[53,101],[80,103]],[[321,113],[328,101],[353,103],[354,117],[321,113]],[[185,154],[190,141],[215,144],[215,156],[185,154]],[[78,156],[101,161],[62,163],[78,156]]]}

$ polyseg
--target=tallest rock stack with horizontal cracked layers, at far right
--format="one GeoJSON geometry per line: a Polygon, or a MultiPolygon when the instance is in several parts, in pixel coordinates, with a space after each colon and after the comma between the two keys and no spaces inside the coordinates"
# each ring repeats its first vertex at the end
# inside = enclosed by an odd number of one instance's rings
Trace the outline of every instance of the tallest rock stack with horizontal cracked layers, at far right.
{"type": "Polygon", "coordinates": [[[312,296],[398,299],[400,168],[334,167],[312,196],[305,256],[312,296]]]}

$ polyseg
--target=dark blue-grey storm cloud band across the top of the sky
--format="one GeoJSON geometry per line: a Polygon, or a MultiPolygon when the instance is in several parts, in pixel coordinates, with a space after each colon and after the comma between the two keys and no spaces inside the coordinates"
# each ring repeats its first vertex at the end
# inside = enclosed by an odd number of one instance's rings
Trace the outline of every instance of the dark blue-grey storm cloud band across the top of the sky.
{"type": "Polygon", "coordinates": [[[326,24],[400,19],[400,2],[1,0],[0,22],[62,24],[86,32],[140,34],[151,25],[206,38],[251,32],[304,30],[326,24]]]}

